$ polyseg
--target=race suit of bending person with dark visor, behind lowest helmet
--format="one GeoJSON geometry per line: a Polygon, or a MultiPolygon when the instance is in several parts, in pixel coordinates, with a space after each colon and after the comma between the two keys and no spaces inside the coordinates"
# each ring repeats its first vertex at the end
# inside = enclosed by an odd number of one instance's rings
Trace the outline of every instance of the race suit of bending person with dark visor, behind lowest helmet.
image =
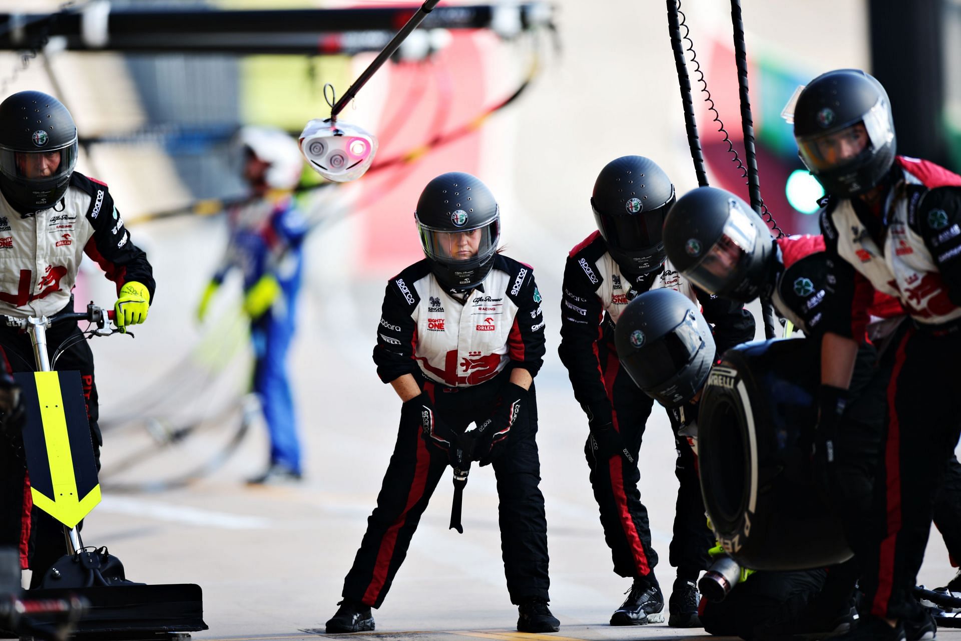
{"type": "MultiPolygon", "coordinates": [[[[637,489],[638,467],[643,465],[637,456],[653,399],[641,392],[621,368],[614,347],[614,324],[634,296],[660,287],[676,289],[701,303],[704,318],[714,326],[719,354],[754,337],[750,312],[740,304],[698,291],[670,262],[642,277],[631,277],[611,258],[598,232],[571,250],[564,268],[560,359],[590,426],[611,424],[635,461],[631,463],[624,456],[595,460],[589,442],[584,448],[614,572],[622,577],[648,576],[657,563],[647,508],[637,489]]],[[[670,560],[678,573],[682,571],[696,580],[697,573],[707,568],[707,550],[713,539],[704,523],[696,456],[686,437],[678,435],[681,426],[676,416],[672,412],[668,416],[675,432],[680,481],[670,560]]]]}

